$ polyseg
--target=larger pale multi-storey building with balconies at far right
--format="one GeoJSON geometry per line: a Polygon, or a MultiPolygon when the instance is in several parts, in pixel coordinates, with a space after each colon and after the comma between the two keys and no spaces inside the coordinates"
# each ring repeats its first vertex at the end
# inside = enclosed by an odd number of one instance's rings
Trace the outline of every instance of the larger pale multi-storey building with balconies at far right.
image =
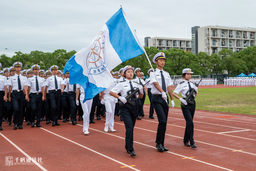
{"type": "Polygon", "coordinates": [[[247,48],[246,46],[255,45],[256,29],[254,28],[206,26],[197,28],[197,32],[198,52],[206,52],[209,55],[218,54],[223,48],[239,52],[247,48]]]}

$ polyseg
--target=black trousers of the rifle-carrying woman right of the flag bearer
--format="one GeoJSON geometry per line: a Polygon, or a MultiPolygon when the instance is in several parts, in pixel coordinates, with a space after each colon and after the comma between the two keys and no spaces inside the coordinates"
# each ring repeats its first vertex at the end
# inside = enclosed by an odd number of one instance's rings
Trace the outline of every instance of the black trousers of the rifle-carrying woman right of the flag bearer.
{"type": "Polygon", "coordinates": [[[181,107],[183,116],[186,120],[186,128],[185,128],[185,134],[184,134],[184,143],[188,143],[190,141],[190,144],[194,144],[194,124],[193,124],[193,117],[196,110],[196,102],[194,100],[194,104],[187,104],[185,108],[181,107]]]}

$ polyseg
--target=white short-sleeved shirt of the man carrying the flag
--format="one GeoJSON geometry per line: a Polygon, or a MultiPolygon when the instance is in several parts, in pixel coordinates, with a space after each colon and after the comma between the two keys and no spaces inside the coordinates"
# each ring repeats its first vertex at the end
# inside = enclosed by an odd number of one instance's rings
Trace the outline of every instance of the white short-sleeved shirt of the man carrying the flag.
{"type": "MultiPolygon", "coordinates": [[[[170,78],[169,73],[164,71],[163,69],[162,69],[162,71],[163,71],[162,73],[163,73],[164,78],[165,78],[165,87],[166,87],[166,92],[165,93],[167,93],[167,87],[170,86],[172,84],[172,82],[171,82],[171,78],[170,78]]],[[[156,73],[156,77],[157,77],[157,79],[160,83],[161,88],[163,88],[163,86],[162,86],[162,77],[161,77],[160,70],[156,68],[155,73],[156,73]]],[[[151,93],[152,94],[162,94],[160,91],[158,91],[156,89],[156,87],[153,84],[154,82],[157,82],[156,77],[153,74],[150,77],[150,84],[152,85],[151,93]]]]}

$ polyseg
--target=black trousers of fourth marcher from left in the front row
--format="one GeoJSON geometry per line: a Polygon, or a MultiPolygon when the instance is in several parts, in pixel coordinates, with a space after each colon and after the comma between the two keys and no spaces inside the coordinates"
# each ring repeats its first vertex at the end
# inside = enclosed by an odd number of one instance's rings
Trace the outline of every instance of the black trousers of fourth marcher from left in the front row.
{"type": "Polygon", "coordinates": [[[50,120],[58,122],[59,110],[61,107],[61,91],[49,90],[49,99],[51,103],[50,120]]]}

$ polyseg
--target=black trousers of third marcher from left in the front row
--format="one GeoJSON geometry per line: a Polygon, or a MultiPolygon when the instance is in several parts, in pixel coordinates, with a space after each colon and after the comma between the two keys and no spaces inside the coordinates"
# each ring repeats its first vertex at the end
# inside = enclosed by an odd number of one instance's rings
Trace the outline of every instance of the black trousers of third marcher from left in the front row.
{"type": "Polygon", "coordinates": [[[35,122],[40,125],[41,110],[42,110],[42,97],[43,94],[29,94],[29,101],[31,102],[31,122],[35,122]]]}

